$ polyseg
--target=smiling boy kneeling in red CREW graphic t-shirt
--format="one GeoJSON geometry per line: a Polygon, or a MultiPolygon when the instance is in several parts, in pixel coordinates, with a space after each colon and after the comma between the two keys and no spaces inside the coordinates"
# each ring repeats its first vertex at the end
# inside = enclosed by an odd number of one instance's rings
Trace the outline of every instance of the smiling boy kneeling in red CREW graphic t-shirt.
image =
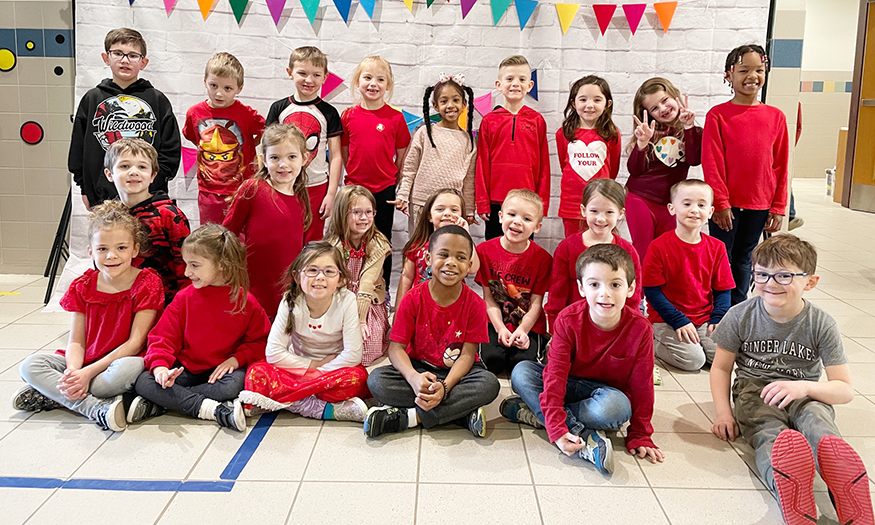
{"type": "Polygon", "coordinates": [[[547,344],[547,321],[541,303],[550,286],[553,257],[530,237],[541,229],[544,203],[530,190],[510,190],[498,212],[504,235],[477,246],[489,316],[489,343],[480,359],[494,374],[517,363],[536,360],[547,344]]]}

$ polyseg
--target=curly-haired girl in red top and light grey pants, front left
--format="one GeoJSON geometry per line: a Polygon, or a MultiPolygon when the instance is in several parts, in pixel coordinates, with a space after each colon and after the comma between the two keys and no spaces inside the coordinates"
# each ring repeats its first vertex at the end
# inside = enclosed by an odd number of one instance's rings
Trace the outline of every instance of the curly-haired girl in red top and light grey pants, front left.
{"type": "Polygon", "coordinates": [[[120,394],[143,371],[146,335],[164,306],[158,275],[131,265],[145,237],[124,204],[107,201],[92,209],[88,254],[97,269],[76,278],[61,299],[72,313],[67,349],[21,363],[27,384],[12,397],[15,410],[63,406],[104,430],[125,429],[120,394]]]}

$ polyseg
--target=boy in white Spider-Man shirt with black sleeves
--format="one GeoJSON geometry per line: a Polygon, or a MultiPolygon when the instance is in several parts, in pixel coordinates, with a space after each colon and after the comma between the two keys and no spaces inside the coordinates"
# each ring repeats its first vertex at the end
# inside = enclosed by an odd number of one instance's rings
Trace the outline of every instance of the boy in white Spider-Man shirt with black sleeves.
{"type": "Polygon", "coordinates": [[[304,232],[304,242],[308,243],[322,239],[325,219],[334,205],[343,167],[340,156],[343,126],[334,106],[319,97],[328,75],[328,57],[322,51],[312,46],[295,49],[289,56],[286,73],[295,83],[295,94],[271,104],[267,124],[294,124],[307,138],[310,158],[307,193],[310,202],[319,205],[310,227],[304,232]]]}

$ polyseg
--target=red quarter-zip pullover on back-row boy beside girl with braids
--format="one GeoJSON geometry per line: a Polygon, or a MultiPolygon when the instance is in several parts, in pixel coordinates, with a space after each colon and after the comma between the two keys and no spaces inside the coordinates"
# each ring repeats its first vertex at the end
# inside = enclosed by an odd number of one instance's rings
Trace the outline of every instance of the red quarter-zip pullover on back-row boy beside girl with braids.
{"type": "Polygon", "coordinates": [[[489,112],[480,122],[477,136],[477,213],[489,213],[507,192],[532,190],[544,201],[544,216],[550,206],[550,150],[547,123],[534,109],[523,106],[514,115],[504,108],[489,112]]]}

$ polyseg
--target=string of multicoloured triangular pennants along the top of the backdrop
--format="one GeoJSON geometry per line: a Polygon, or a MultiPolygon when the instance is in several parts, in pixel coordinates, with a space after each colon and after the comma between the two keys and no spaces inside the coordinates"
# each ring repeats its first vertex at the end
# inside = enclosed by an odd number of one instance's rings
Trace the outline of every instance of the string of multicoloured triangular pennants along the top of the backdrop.
{"type": "MultiPolygon", "coordinates": [[[[128,0],[131,5],[134,4],[134,0],[128,0]]],[[[167,12],[167,15],[170,15],[170,12],[173,11],[173,8],[176,7],[176,3],[178,0],[164,0],[164,9],[167,12]]],[[[265,0],[267,3],[267,9],[270,11],[270,15],[273,18],[273,22],[276,25],[279,25],[280,18],[282,17],[283,10],[286,7],[286,2],[288,0],[265,0]]],[[[310,20],[310,24],[312,25],[316,21],[316,13],[319,10],[319,2],[320,0],[299,0],[301,3],[301,7],[304,9],[304,13],[307,15],[307,19],[310,20]]],[[[449,2],[449,0],[447,0],[449,2]]],[[[538,6],[538,0],[491,0],[490,8],[492,9],[492,25],[498,25],[501,17],[504,16],[504,13],[510,8],[510,3],[514,2],[516,7],[517,17],[519,18],[520,30],[526,27],[526,24],[529,23],[529,19],[532,17],[532,13],[535,12],[535,8],[538,6]]],[[[237,23],[243,19],[243,13],[246,10],[246,6],[249,4],[250,0],[228,0],[231,4],[231,10],[234,12],[234,17],[237,19],[237,23]]],[[[333,0],[334,6],[337,8],[337,11],[340,13],[340,16],[343,18],[343,21],[349,22],[349,13],[352,8],[352,0],[333,0]]],[[[413,0],[403,0],[404,5],[407,6],[407,9],[410,12],[413,12],[413,0]]],[[[435,2],[435,0],[426,0],[426,7],[431,7],[431,5],[435,2]]],[[[204,20],[209,16],[210,11],[215,4],[214,0],[197,0],[198,6],[200,7],[201,15],[204,17],[204,20]]],[[[471,11],[471,8],[474,7],[474,4],[477,3],[477,0],[461,0],[462,5],[462,18],[468,16],[468,13],[471,11]]],[[[359,4],[368,14],[369,18],[374,17],[374,7],[376,5],[376,0],[359,0],[359,4]]],[[[583,4],[571,4],[571,3],[554,3],[556,7],[556,14],[559,17],[559,25],[562,27],[562,34],[568,32],[568,28],[571,27],[571,22],[574,20],[574,17],[577,15],[577,11],[583,7],[583,4]]],[[[656,2],[651,4],[653,9],[656,11],[656,16],[659,18],[659,23],[662,25],[663,32],[668,32],[668,27],[671,25],[671,20],[674,17],[675,9],[677,9],[678,3],[676,1],[672,2],[656,2]]],[[[611,22],[611,19],[614,16],[614,12],[617,10],[618,4],[592,4],[589,7],[592,8],[593,13],[595,14],[596,21],[599,25],[599,30],[602,35],[605,34],[605,31],[608,29],[608,25],[611,22]]],[[[641,18],[644,16],[644,11],[647,9],[647,4],[622,4],[623,14],[626,17],[626,22],[629,24],[629,29],[632,31],[632,34],[635,34],[635,31],[638,30],[638,25],[641,23],[641,18]]]]}

